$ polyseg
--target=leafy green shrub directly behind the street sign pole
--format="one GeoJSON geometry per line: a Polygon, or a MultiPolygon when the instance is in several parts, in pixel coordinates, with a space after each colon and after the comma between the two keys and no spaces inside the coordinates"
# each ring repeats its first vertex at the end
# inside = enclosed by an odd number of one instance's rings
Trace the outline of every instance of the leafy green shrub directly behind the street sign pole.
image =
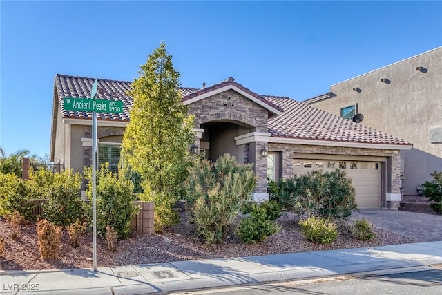
{"type": "MultiPolygon", "coordinates": [[[[89,167],[84,171],[86,179],[90,180],[86,196],[92,200],[92,169],[89,167]]],[[[132,216],[137,212],[133,183],[123,173],[109,171],[106,163],[96,173],[96,189],[97,232],[106,234],[109,225],[117,232],[118,238],[127,238],[131,233],[132,216]]]]}

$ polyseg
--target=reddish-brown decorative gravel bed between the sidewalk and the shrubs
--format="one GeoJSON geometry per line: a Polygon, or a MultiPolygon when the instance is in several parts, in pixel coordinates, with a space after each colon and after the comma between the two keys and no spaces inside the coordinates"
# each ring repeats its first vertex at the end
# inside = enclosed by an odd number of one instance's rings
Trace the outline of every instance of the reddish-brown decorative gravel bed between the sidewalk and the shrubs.
{"type": "MultiPolygon", "coordinates": [[[[185,216],[182,216],[185,220],[185,216]]],[[[389,231],[374,229],[376,237],[369,241],[356,240],[341,230],[338,238],[329,245],[320,245],[302,237],[298,227],[298,216],[283,216],[277,220],[280,226],[278,234],[270,236],[257,245],[242,244],[233,235],[226,242],[206,245],[195,234],[193,225],[183,221],[166,229],[163,234],[137,234],[126,240],[119,240],[117,251],[108,251],[106,240],[97,237],[98,267],[113,265],[131,265],[145,263],[166,263],[169,261],[195,260],[210,258],[228,258],[285,254],[294,252],[375,247],[382,245],[418,242],[412,238],[400,236],[389,231]]],[[[35,222],[23,225],[17,240],[10,238],[10,229],[5,220],[0,219],[0,235],[6,240],[6,251],[0,256],[0,269],[68,269],[92,268],[92,236],[84,234],[80,247],[72,248],[64,230],[62,247],[57,260],[44,260],[40,257],[35,222]]]]}

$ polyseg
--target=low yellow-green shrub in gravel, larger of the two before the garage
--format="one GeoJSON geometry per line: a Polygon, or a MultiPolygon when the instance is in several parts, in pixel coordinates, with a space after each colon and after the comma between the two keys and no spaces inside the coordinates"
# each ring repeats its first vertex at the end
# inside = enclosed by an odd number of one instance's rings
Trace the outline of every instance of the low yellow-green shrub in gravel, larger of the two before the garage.
{"type": "Polygon", "coordinates": [[[305,238],[320,244],[334,242],[338,236],[338,231],[336,230],[338,226],[329,219],[310,217],[306,220],[300,220],[299,225],[305,238]]]}

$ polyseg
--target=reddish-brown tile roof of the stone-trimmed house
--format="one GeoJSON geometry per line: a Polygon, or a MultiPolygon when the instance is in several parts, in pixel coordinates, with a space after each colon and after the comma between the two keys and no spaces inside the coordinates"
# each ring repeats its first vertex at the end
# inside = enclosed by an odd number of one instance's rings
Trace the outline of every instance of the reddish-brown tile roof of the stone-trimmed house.
{"type": "MultiPolygon", "coordinates": [[[[92,88],[94,80],[94,78],[88,77],[55,76],[55,91],[57,93],[62,117],[77,119],[92,118],[92,113],[90,112],[64,110],[63,98],[90,97],[90,89],[92,88]]],[[[186,87],[180,87],[179,89],[183,95],[182,100],[185,101],[226,85],[234,85],[242,91],[249,93],[249,95],[253,95],[253,97],[262,100],[262,102],[265,102],[269,106],[282,111],[281,115],[269,119],[269,133],[271,133],[272,137],[324,140],[330,142],[411,145],[410,142],[398,137],[371,129],[362,124],[356,124],[355,122],[321,111],[318,108],[302,102],[296,102],[289,97],[258,95],[231,79],[202,89],[186,87]]],[[[132,98],[126,94],[130,88],[131,82],[98,79],[97,98],[121,99],[124,105],[124,113],[98,113],[97,119],[128,122],[130,119],[129,109],[133,102],[132,98]]],[[[56,116],[53,114],[53,117],[56,116]]],[[[52,128],[55,128],[55,126],[52,126],[52,128]]]]}

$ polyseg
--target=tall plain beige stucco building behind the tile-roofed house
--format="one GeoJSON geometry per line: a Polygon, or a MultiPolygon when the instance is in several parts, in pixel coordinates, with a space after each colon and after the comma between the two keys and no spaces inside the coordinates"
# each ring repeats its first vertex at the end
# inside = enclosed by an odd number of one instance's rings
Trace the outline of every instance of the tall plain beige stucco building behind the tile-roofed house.
{"type": "Polygon", "coordinates": [[[330,86],[330,92],[304,101],[324,111],[413,143],[401,152],[401,192],[442,171],[442,47],[330,86]]]}

